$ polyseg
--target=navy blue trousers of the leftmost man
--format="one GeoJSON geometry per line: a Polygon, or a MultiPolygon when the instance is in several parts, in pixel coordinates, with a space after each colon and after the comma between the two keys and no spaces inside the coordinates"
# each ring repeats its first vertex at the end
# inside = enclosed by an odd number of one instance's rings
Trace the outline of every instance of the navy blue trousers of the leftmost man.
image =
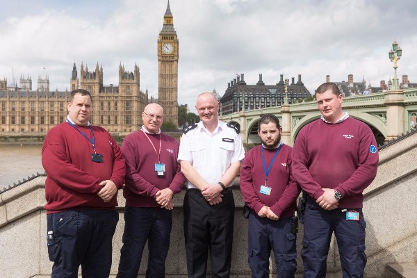
{"type": "Polygon", "coordinates": [[[79,266],[85,278],[108,278],[112,238],[119,213],[115,210],[76,208],[47,215],[52,278],[76,278],[79,266]]]}

